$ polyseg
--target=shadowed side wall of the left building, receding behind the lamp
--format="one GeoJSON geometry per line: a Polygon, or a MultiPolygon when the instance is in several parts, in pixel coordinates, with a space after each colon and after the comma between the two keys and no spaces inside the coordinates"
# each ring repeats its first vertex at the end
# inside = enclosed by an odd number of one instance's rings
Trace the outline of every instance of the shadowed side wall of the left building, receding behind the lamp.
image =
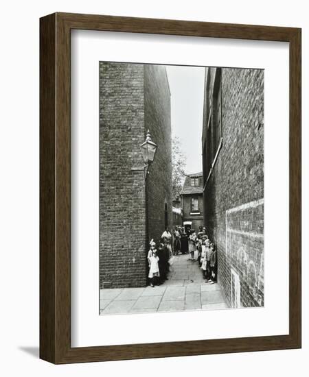
{"type": "Polygon", "coordinates": [[[165,66],[145,65],[145,134],[150,130],[157,147],[146,180],[149,239],[159,241],[165,228],[165,204],[168,225],[172,228],[172,138],[170,88],[165,66]]]}

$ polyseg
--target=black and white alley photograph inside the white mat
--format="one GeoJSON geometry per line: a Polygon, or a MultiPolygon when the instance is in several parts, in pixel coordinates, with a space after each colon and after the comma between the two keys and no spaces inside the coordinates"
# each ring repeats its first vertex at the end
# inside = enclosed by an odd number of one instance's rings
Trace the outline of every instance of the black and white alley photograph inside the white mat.
{"type": "Polygon", "coordinates": [[[99,80],[100,315],[264,306],[264,70],[99,80]]]}

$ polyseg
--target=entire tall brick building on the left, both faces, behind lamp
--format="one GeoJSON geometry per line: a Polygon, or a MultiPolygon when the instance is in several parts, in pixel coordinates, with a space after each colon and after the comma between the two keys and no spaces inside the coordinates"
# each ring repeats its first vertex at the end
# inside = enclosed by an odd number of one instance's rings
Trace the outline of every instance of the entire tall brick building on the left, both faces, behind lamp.
{"type": "Polygon", "coordinates": [[[100,62],[100,288],[146,286],[149,241],[172,226],[171,188],[165,67],[100,62]],[[145,180],[148,130],[158,147],[145,180]]]}

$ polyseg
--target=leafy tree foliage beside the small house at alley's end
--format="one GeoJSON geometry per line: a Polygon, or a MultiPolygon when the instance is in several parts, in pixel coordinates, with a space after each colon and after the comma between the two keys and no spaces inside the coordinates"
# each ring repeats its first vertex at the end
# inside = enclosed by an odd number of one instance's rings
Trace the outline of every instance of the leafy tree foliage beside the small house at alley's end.
{"type": "Polygon", "coordinates": [[[172,138],[172,195],[180,195],[185,180],[185,154],[181,150],[181,141],[179,137],[172,138]]]}

